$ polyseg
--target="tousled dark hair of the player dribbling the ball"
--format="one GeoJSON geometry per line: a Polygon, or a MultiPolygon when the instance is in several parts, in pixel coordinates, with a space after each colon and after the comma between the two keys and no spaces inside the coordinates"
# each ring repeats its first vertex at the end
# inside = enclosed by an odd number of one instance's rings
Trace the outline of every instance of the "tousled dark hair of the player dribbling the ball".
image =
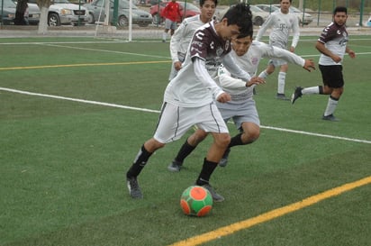
{"type": "Polygon", "coordinates": [[[250,32],[252,30],[252,14],[250,6],[247,4],[240,3],[238,5],[231,6],[222,19],[227,19],[227,24],[237,24],[240,27],[240,32],[250,32]]]}

